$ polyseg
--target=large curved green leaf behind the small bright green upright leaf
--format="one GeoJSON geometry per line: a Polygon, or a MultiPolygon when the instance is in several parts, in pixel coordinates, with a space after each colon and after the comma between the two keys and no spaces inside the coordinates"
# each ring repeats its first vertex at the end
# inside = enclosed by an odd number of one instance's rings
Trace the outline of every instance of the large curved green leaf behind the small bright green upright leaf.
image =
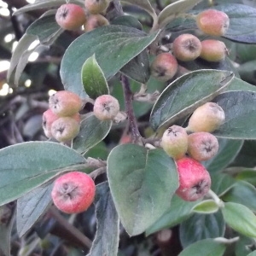
{"type": "Polygon", "coordinates": [[[106,77],[114,74],[146,49],[156,38],[157,33],[146,33],[128,26],[109,25],[84,33],[67,48],[61,61],[61,80],[66,90],[81,95],[81,68],[91,55],[106,77]],[[111,52],[111,54],[110,54],[111,52]]]}

